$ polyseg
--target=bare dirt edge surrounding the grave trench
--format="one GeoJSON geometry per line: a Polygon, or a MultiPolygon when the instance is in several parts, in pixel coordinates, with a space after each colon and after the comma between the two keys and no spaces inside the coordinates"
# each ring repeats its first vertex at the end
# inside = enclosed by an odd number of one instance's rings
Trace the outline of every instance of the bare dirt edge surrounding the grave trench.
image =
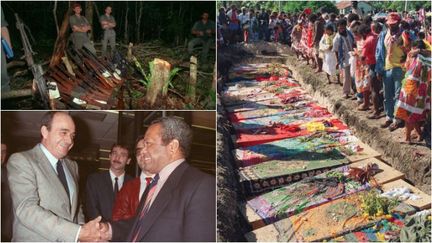
{"type": "MultiPolygon", "coordinates": [[[[390,132],[380,128],[384,117],[378,120],[367,119],[369,113],[357,111],[356,101],[342,98],[341,86],[327,84],[324,73],[315,73],[306,62],[298,60],[288,46],[267,42],[238,44],[219,48],[217,55],[219,91],[233,65],[263,62],[286,64],[293,71],[294,78],[301,82],[302,87],[314,99],[339,116],[360,140],[382,154],[381,160],[403,172],[405,178],[417,188],[431,194],[431,150],[424,142],[414,145],[401,143],[403,129],[390,132]]],[[[218,104],[218,227],[223,225],[223,228],[218,229],[218,239],[233,240],[242,239],[248,225],[238,220],[242,217],[236,208],[236,202],[241,202],[244,197],[237,184],[237,174],[233,172],[235,164],[230,154],[233,147],[228,139],[230,128],[224,116],[224,108],[218,104]]]]}

